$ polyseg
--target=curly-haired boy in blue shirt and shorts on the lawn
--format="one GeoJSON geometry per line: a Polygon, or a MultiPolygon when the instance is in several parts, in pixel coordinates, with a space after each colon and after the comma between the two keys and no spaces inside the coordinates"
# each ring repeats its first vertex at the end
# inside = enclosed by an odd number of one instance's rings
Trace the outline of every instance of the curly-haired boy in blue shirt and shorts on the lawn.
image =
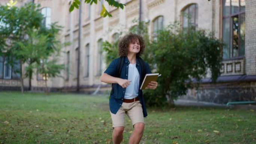
{"type": "MultiPolygon", "coordinates": [[[[144,40],[137,34],[129,33],[119,42],[119,56],[114,59],[101,76],[101,82],[112,83],[109,107],[113,124],[113,143],[120,144],[123,139],[125,127],[125,114],[131,119],[134,131],[129,138],[129,144],[138,144],[143,136],[144,117],[147,116],[145,101],[140,86],[142,71],[151,73],[149,65],[140,55],[145,49],[144,40]],[[117,76],[117,67],[121,59],[121,74],[117,76]]],[[[147,88],[156,89],[157,82],[150,82],[147,88]]]]}

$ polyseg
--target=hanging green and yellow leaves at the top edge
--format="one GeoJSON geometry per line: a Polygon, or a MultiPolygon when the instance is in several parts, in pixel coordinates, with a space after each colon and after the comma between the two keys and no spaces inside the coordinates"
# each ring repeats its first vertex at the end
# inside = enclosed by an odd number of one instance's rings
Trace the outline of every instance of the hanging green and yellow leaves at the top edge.
{"type": "MultiPolygon", "coordinates": [[[[115,0],[105,0],[105,1],[107,1],[107,3],[110,6],[114,6],[116,8],[120,7],[121,9],[124,9],[125,4],[119,3],[118,1],[115,1],[115,0]]],[[[97,4],[98,2],[101,3],[101,0],[85,0],[85,3],[90,3],[91,5],[93,3],[97,4]]],[[[72,12],[74,10],[74,7],[79,9],[79,5],[80,5],[80,0],[73,0],[71,6],[69,8],[69,12],[72,12]]],[[[106,17],[106,16],[112,17],[112,15],[107,11],[105,6],[103,4],[101,4],[101,5],[102,5],[102,10],[101,10],[100,15],[103,17],[106,17]]]]}

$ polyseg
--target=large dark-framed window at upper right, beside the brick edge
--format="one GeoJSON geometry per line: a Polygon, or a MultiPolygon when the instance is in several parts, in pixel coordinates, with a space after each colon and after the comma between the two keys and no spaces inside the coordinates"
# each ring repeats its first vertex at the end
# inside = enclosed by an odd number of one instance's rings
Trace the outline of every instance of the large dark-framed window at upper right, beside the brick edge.
{"type": "Polygon", "coordinates": [[[223,59],[244,55],[245,0],[222,0],[223,59]]]}

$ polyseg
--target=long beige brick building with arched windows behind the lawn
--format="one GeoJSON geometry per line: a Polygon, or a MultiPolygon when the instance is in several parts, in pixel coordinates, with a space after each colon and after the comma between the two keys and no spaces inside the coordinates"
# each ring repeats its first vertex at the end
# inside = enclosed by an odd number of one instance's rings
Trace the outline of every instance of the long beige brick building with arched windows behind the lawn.
{"type": "MultiPolygon", "coordinates": [[[[2,0],[5,4],[9,0],[2,0]]],[[[32,0],[19,0],[18,6],[32,0]]],[[[124,10],[105,5],[112,18],[100,16],[101,5],[82,3],[80,50],[79,10],[69,13],[70,0],[33,0],[40,3],[46,26],[52,22],[64,27],[60,33],[62,42],[71,42],[63,48],[60,61],[66,65],[61,72],[62,78],[48,80],[52,91],[76,91],[77,80],[81,92],[92,93],[106,91],[109,85],[101,83],[99,78],[107,67],[102,52],[102,42],[114,41],[119,31],[128,31],[136,25],[132,22],[140,16],[140,0],[119,0],[125,3],[124,10]],[[80,66],[78,66],[80,55],[80,66]],[[78,68],[79,67],[79,68],[78,68]],[[79,69],[79,77],[77,77],[79,69]]],[[[188,27],[188,18],[198,28],[213,31],[217,38],[227,44],[223,49],[222,75],[217,84],[210,79],[202,80],[196,91],[189,90],[182,99],[226,103],[228,101],[253,100],[256,96],[256,0],[141,0],[141,20],[149,21],[149,34],[161,29],[170,22],[180,21],[182,27],[188,27]]],[[[20,82],[12,75],[0,57],[0,89],[19,89],[20,82]]],[[[42,90],[43,78],[34,74],[33,90],[42,90]]],[[[28,86],[28,80],[25,80],[28,86]]]]}

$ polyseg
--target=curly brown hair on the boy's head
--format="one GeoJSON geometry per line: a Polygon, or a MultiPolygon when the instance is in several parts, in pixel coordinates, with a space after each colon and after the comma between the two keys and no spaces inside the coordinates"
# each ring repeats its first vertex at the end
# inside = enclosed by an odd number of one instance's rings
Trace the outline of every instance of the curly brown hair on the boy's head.
{"type": "Polygon", "coordinates": [[[136,54],[136,56],[140,56],[145,49],[145,43],[144,43],[144,39],[142,36],[138,35],[138,34],[134,34],[134,33],[129,33],[127,35],[125,35],[119,42],[118,45],[118,54],[119,56],[127,56],[128,55],[128,48],[129,48],[129,44],[132,43],[133,41],[135,41],[136,39],[139,40],[140,42],[140,52],[138,52],[136,54]]]}

